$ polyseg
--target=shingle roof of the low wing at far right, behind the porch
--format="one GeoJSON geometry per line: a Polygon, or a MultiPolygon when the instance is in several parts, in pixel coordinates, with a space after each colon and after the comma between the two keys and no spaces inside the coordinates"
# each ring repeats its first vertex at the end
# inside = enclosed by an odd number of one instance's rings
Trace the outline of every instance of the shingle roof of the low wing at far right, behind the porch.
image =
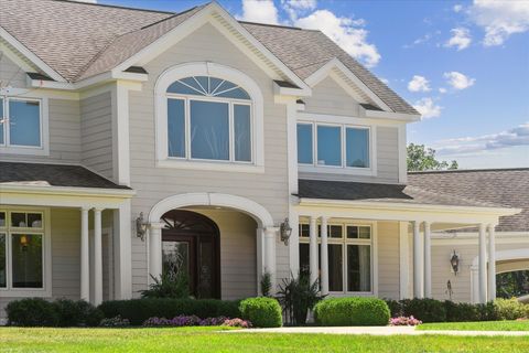
{"type": "Polygon", "coordinates": [[[499,232],[529,231],[529,168],[417,172],[408,174],[410,185],[458,197],[522,208],[500,217],[499,232]]]}

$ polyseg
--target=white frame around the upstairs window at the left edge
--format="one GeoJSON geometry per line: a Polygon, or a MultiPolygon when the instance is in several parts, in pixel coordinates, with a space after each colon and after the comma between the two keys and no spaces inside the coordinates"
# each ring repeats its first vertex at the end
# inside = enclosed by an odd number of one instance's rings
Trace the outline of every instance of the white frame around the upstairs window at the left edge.
{"type": "Polygon", "coordinates": [[[26,97],[26,96],[0,96],[3,99],[3,106],[0,107],[2,116],[6,118],[3,122],[3,143],[0,143],[0,153],[9,154],[24,154],[24,156],[50,156],[50,108],[48,99],[46,97],[26,97]],[[40,121],[40,146],[21,146],[10,145],[10,126],[9,126],[9,101],[36,101],[39,103],[39,121],[40,121]]]}

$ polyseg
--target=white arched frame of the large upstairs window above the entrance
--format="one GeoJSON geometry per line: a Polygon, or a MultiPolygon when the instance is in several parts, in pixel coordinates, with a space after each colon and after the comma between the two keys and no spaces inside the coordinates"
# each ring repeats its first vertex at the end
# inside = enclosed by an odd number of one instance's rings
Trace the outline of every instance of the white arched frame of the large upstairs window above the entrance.
{"type": "MultiPolygon", "coordinates": [[[[156,136],[156,167],[159,168],[177,168],[192,170],[213,170],[226,172],[248,172],[248,173],[263,173],[264,172],[264,122],[263,122],[263,96],[259,85],[242,72],[219,65],[216,63],[197,62],[176,65],[168,68],[158,78],[154,88],[154,116],[155,116],[155,136],[156,136]],[[171,84],[177,79],[191,76],[210,76],[225,81],[229,81],[242,89],[250,96],[250,100],[207,97],[198,95],[175,95],[168,93],[171,84]],[[250,104],[250,128],[251,128],[251,162],[231,161],[235,158],[235,147],[230,142],[230,161],[222,160],[204,160],[191,159],[191,140],[186,131],[186,158],[169,157],[168,145],[168,98],[169,97],[186,97],[186,99],[196,100],[218,100],[223,103],[233,101],[236,104],[250,104]],[[187,158],[187,153],[190,158],[187,158]]],[[[188,101],[188,100],[186,100],[188,101]]],[[[188,110],[187,104],[186,111],[188,110]]],[[[233,105],[230,105],[233,110],[233,105]]],[[[186,116],[188,113],[186,113],[186,116]]],[[[230,111],[230,116],[233,113],[230,111]]],[[[188,120],[187,117],[185,120],[188,120]]],[[[186,121],[186,130],[191,128],[186,121]]],[[[230,140],[233,136],[233,124],[230,124],[230,140]]]]}

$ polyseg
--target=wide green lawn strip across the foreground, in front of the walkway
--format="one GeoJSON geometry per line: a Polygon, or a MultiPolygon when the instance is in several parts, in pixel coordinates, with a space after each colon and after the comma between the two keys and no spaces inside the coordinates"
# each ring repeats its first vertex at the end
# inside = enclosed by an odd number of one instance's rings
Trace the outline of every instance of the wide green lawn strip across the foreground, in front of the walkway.
{"type": "Polygon", "coordinates": [[[528,338],[368,336],[192,329],[0,328],[0,352],[529,352],[528,338]]]}

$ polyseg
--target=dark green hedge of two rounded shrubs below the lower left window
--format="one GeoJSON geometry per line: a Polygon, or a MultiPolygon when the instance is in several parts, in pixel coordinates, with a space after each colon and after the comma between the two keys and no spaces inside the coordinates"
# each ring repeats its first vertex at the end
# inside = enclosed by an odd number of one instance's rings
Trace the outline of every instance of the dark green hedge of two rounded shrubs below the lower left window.
{"type": "Polygon", "coordinates": [[[97,327],[102,312],[90,303],[58,299],[26,298],[6,307],[8,324],[17,327],[97,327]]]}

